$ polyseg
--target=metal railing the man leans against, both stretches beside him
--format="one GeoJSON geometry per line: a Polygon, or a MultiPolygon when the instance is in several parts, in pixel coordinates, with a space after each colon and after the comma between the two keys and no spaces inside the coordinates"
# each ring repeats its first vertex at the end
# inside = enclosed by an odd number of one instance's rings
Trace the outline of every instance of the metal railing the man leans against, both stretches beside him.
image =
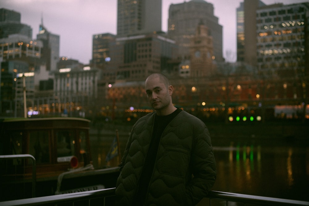
{"type": "MultiPolygon", "coordinates": [[[[198,206],[206,205],[309,205],[307,201],[286,200],[271,197],[243,195],[230,192],[211,191],[198,206]]],[[[30,205],[115,205],[115,188],[71,194],[36,197],[0,202],[1,206],[30,205]]]]}

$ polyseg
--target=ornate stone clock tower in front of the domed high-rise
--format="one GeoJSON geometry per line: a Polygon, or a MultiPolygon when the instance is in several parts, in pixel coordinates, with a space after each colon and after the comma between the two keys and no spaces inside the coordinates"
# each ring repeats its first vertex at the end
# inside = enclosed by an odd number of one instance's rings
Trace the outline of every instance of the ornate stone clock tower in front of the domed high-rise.
{"type": "Polygon", "coordinates": [[[200,22],[190,41],[191,77],[210,76],[214,73],[213,38],[200,22]]]}

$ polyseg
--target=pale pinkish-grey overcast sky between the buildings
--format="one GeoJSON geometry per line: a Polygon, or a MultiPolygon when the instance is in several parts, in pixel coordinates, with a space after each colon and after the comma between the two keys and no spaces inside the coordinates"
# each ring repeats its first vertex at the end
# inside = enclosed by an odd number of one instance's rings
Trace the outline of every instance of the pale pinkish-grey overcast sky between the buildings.
{"type": "MultiPolygon", "coordinates": [[[[188,2],[189,0],[186,0],[188,2]]],[[[265,4],[308,2],[306,0],[262,0],[265,4]]],[[[184,0],[162,0],[162,31],[167,31],[170,4],[184,0]]],[[[243,0],[207,0],[223,26],[223,56],[236,54],[236,8],[243,0]]],[[[92,58],[92,35],[116,35],[117,0],[0,0],[0,8],[21,14],[21,23],[32,27],[36,39],[41,17],[45,28],[60,36],[60,56],[88,64],[92,58]]],[[[236,55],[235,55],[236,57],[236,55]]]]}

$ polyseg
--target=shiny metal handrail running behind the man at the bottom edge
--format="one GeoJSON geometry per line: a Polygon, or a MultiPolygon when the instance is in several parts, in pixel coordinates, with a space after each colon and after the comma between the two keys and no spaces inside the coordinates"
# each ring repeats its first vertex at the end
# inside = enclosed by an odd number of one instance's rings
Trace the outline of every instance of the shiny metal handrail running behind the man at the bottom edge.
{"type": "MultiPolygon", "coordinates": [[[[87,191],[87,192],[77,192],[70,194],[62,194],[62,195],[53,195],[53,196],[45,196],[45,197],[36,197],[29,198],[23,200],[11,200],[0,202],[1,206],[30,206],[30,205],[57,205],[61,203],[73,203],[88,200],[88,204],[85,205],[96,205],[91,204],[91,200],[101,198],[100,203],[105,205],[105,198],[113,197],[115,198],[115,188],[101,189],[95,191],[87,191]]],[[[243,195],[237,193],[230,192],[218,192],[211,191],[209,195],[206,197],[209,199],[210,205],[213,199],[224,200],[226,201],[226,205],[229,202],[241,202],[244,204],[260,204],[260,205],[309,205],[307,201],[299,201],[299,200],[287,200],[280,198],[272,198],[272,197],[262,197],[262,196],[254,196],[254,195],[243,195]]],[[[198,204],[204,205],[204,204],[198,204]]],[[[207,204],[208,205],[208,204],[207,204]]]]}

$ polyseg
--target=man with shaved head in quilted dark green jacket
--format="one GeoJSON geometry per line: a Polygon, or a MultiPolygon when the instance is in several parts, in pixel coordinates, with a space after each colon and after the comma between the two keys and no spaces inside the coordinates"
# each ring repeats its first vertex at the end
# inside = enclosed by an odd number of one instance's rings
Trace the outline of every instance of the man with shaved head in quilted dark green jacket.
{"type": "Polygon", "coordinates": [[[173,86],[163,74],[150,75],[145,89],[155,112],[132,128],[116,183],[116,205],[195,205],[216,179],[208,129],[173,105],[173,86]]]}

